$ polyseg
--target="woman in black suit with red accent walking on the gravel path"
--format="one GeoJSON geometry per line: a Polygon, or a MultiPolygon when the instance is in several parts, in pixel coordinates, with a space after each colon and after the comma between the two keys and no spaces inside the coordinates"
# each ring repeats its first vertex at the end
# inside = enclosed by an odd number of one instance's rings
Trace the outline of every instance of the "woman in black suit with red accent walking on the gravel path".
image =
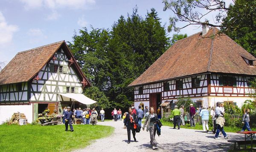
{"type": "Polygon", "coordinates": [[[135,118],[136,118],[136,114],[132,112],[131,107],[129,107],[128,109],[129,113],[126,115],[125,120],[124,120],[124,124],[125,124],[125,128],[127,128],[127,135],[128,135],[128,143],[131,143],[131,132],[134,138],[134,141],[136,141],[135,135],[136,135],[136,124],[135,124],[135,118]]]}

